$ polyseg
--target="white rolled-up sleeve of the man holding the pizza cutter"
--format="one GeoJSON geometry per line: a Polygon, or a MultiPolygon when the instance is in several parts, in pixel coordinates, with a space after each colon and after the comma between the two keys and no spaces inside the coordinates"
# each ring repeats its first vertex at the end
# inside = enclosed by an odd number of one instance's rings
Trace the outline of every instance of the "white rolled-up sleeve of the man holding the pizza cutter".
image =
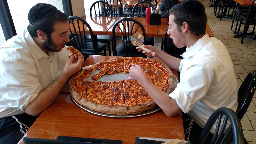
{"type": "Polygon", "coordinates": [[[211,75],[202,65],[193,65],[184,71],[180,83],[169,96],[175,99],[184,113],[188,113],[193,105],[206,95],[211,83],[211,75]]]}

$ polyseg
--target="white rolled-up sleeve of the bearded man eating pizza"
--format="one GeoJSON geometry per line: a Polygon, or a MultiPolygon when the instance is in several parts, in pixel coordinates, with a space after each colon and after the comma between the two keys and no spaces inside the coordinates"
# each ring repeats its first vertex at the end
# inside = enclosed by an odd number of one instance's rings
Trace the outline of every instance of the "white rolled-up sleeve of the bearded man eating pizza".
{"type": "Polygon", "coordinates": [[[36,64],[15,58],[2,60],[0,68],[1,97],[8,106],[24,111],[43,89],[38,80],[36,64]]]}

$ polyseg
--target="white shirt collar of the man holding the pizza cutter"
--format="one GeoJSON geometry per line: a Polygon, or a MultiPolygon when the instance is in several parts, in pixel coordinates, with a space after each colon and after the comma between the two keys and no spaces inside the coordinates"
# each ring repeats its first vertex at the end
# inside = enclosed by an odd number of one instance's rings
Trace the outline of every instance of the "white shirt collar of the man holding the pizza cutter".
{"type": "Polygon", "coordinates": [[[208,42],[210,41],[210,37],[205,34],[201,37],[193,46],[187,48],[186,51],[181,55],[183,58],[189,58],[196,54],[198,51],[202,49],[208,42]]]}

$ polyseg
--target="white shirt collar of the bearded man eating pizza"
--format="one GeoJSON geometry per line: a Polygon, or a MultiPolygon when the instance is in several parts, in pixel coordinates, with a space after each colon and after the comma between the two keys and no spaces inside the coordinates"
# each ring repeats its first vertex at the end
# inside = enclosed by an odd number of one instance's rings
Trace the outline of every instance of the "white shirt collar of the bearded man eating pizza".
{"type": "Polygon", "coordinates": [[[46,54],[34,41],[32,36],[27,31],[25,33],[26,42],[28,44],[29,49],[35,54],[37,57],[37,60],[40,60],[41,58],[49,58],[48,54],[46,54]]]}

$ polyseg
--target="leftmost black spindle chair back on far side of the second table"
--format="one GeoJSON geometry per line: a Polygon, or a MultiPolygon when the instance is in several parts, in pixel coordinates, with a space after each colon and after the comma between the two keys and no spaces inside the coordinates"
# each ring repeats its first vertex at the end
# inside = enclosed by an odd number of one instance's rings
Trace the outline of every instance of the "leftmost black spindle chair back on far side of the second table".
{"type": "Polygon", "coordinates": [[[113,17],[112,7],[105,1],[96,1],[92,4],[90,8],[90,16],[92,16],[92,12],[94,16],[111,16],[113,17]]]}

